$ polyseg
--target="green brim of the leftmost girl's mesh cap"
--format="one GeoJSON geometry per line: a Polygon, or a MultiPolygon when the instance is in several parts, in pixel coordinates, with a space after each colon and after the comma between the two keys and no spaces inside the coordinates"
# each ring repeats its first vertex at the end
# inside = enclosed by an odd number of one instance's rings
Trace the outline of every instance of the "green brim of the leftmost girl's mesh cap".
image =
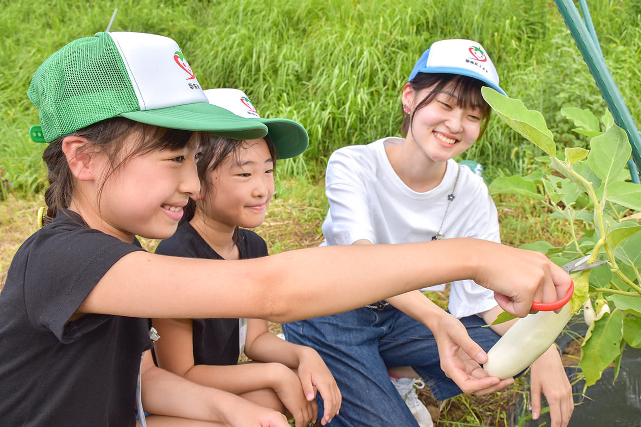
{"type": "Polygon", "coordinates": [[[185,131],[211,132],[235,140],[256,140],[267,134],[267,126],[260,120],[239,117],[208,102],[132,111],[122,113],[121,116],[149,125],[185,131]]]}

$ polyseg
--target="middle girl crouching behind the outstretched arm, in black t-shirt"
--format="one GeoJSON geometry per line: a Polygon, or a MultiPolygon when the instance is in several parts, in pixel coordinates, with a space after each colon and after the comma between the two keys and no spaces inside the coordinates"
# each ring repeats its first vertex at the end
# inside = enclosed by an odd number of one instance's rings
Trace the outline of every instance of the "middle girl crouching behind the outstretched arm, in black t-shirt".
{"type": "MultiPolygon", "coordinates": [[[[274,194],[276,159],[301,154],[308,145],[307,133],[292,120],[261,119],[241,90],[204,92],[212,104],[267,125],[267,135],[247,141],[212,136],[203,144],[198,160],[201,191],[185,206],[176,233],[160,242],[155,253],[228,260],[264,257],[265,241],[248,229],[265,220],[274,194]]],[[[162,336],[154,351],[164,369],[288,412],[296,426],[316,420],[315,390],[325,402],[323,424],[338,413],[340,392],[318,353],[271,334],[265,320],[154,319],[153,325],[162,336]],[[253,362],[263,363],[237,365],[243,349],[253,362]]]]}

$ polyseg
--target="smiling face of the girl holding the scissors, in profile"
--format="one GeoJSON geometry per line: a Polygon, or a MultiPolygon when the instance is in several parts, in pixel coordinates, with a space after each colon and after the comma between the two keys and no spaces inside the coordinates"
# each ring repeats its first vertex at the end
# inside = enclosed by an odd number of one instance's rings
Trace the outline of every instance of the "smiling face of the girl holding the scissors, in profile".
{"type": "Polygon", "coordinates": [[[117,168],[108,154],[97,153],[96,180],[87,187],[85,202],[79,202],[88,225],[123,241],[132,241],[135,235],[152,239],[172,236],[183,206],[200,188],[196,135],[182,148],[126,156],[140,147],[142,136],[132,132],[116,159],[122,161],[117,168]]]}

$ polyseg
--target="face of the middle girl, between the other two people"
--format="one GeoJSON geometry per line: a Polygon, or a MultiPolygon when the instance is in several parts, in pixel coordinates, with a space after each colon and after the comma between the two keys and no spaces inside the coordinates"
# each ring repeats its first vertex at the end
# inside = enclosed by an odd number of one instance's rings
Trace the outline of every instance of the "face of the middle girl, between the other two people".
{"type": "Polygon", "coordinates": [[[208,226],[258,227],[274,194],[274,158],[262,138],[242,147],[207,172],[208,191],[194,197],[208,226]]]}

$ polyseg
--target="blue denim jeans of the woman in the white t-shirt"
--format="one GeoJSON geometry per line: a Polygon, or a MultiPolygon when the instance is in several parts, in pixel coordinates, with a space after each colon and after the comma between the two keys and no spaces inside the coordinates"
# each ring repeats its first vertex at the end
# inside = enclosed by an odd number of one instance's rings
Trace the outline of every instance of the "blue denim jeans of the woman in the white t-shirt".
{"type": "MultiPolygon", "coordinates": [[[[498,341],[492,329],[481,328],[485,322],[478,316],[461,321],[485,351],[498,341]]],[[[317,350],[334,375],[343,403],[331,426],[418,425],[390,382],[388,367],[412,366],[438,400],[461,392],[440,369],[432,332],[391,305],[283,323],[283,332],[287,341],[317,350]]],[[[320,396],[317,402],[322,416],[320,396]]]]}

